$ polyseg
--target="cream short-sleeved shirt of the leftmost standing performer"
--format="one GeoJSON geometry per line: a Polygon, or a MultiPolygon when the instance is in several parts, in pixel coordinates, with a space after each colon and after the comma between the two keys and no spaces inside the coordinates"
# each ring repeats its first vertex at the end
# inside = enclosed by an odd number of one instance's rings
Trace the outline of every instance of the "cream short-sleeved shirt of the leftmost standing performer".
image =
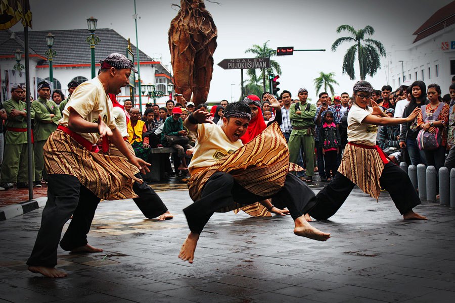
{"type": "MultiPolygon", "coordinates": [[[[77,86],[71,94],[68,104],[62,113],[59,124],[68,126],[69,109],[75,110],[84,120],[97,123],[98,115],[101,115],[104,123],[110,129],[116,128],[114,115],[112,113],[112,102],[104,90],[103,84],[97,78],[88,80],[77,86]]],[[[100,139],[98,133],[78,133],[83,138],[96,144],[100,139]]]]}

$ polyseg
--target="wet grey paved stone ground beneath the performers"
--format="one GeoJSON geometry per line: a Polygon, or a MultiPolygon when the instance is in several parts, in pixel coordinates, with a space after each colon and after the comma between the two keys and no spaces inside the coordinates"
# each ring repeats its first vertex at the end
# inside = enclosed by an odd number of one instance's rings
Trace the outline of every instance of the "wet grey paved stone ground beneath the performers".
{"type": "MultiPolygon", "coordinates": [[[[316,186],[314,186],[316,187],[316,186]]],[[[428,221],[403,221],[387,193],[355,189],[327,242],[294,236],[287,217],[215,214],[194,264],[177,258],[188,233],[187,190],[159,193],[173,220],[147,220],[131,200],[103,201],[89,243],[59,248],[63,279],[27,271],[42,209],[0,222],[0,302],[453,302],[455,210],[424,202],[428,221]]]]}

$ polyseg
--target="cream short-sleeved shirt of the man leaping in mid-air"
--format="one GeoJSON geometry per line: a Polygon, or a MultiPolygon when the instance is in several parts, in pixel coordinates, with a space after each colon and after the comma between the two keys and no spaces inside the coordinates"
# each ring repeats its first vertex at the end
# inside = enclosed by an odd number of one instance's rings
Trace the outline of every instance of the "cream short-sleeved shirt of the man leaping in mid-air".
{"type": "Polygon", "coordinates": [[[191,159],[190,173],[198,168],[206,168],[221,158],[228,156],[243,146],[241,140],[232,142],[220,126],[211,123],[198,124],[196,146],[191,159]]]}

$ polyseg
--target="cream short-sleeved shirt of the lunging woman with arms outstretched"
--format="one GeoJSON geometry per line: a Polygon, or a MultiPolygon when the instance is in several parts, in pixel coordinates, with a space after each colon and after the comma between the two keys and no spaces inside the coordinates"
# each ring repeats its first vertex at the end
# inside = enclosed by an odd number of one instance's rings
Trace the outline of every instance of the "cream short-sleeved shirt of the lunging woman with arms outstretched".
{"type": "Polygon", "coordinates": [[[354,141],[368,141],[376,145],[376,135],[378,133],[378,126],[362,123],[368,115],[373,113],[373,109],[362,109],[356,104],[353,104],[348,113],[348,142],[354,141]]]}

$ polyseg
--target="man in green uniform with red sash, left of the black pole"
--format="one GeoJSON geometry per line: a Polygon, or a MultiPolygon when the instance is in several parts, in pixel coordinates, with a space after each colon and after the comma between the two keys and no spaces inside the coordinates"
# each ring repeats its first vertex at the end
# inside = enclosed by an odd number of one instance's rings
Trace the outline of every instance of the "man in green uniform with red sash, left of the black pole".
{"type": "MultiPolygon", "coordinates": [[[[12,188],[13,183],[18,188],[28,188],[27,105],[21,100],[23,94],[21,84],[12,84],[11,99],[3,104],[8,120],[0,186],[5,189],[12,188]]],[[[31,109],[32,119],[33,114],[31,109]]]]}

